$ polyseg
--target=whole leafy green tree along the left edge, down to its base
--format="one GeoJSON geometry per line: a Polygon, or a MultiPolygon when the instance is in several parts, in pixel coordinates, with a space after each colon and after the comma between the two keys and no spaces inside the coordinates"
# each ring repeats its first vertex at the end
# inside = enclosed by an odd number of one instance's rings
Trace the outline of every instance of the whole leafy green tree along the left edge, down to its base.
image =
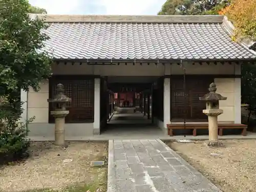
{"type": "Polygon", "coordinates": [[[27,0],[0,0],[0,159],[1,154],[17,154],[28,144],[25,130],[17,130],[26,127],[17,124],[22,112],[20,89],[38,91],[39,82],[51,75],[52,59],[38,51],[49,38],[42,33],[47,25],[30,19],[29,9],[27,0]]]}

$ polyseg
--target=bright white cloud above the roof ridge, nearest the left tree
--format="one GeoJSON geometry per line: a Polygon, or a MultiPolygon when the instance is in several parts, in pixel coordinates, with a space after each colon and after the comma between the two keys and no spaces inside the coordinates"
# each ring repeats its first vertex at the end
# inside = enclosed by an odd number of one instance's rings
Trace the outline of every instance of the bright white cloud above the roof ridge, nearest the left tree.
{"type": "Polygon", "coordinates": [[[29,0],[32,6],[47,10],[48,14],[75,14],[79,0],[29,0]]]}

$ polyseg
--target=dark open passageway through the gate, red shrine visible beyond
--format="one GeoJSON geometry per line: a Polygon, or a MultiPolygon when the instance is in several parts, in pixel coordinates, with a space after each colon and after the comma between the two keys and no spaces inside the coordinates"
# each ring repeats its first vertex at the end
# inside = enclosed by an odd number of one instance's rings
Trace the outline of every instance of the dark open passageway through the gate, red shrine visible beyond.
{"type": "Polygon", "coordinates": [[[154,124],[153,112],[153,102],[158,102],[157,98],[154,100],[156,89],[154,82],[158,78],[145,76],[108,76],[105,78],[104,87],[103,84],[101,86],[102,107],[100,111],[103,114],[103,103],[108,103],[108,114],[106,123],[101,126],[101,134],[135,131],[161,132],[161,129],[154,124]]]}

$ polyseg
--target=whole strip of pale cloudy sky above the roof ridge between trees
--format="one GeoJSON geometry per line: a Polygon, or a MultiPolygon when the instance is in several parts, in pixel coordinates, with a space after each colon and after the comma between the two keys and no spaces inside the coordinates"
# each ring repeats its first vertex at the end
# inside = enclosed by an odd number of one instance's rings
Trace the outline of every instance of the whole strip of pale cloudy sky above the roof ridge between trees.
{"type": "Polygon", "coordinates": [[[48,14],[156,15],[166,0],[29,0],[48,14]]]}

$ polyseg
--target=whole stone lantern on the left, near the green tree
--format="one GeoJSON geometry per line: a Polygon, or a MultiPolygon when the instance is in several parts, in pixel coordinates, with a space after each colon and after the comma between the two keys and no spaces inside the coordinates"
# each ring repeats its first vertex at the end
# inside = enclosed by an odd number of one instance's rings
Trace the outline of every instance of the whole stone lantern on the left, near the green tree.
{"type": "Polygon", "coordinates": [[[57,93],[52,99],[47,99],[48,102],[54,104],[54,111],[51,111],[51,115],[55,118],[54,136],[55,145],[65,146],[65,117],[69,114],[66,110],[66,104],[71,102],[71,99],[64,94],[63,84],[57,84],[57,93]]]}

